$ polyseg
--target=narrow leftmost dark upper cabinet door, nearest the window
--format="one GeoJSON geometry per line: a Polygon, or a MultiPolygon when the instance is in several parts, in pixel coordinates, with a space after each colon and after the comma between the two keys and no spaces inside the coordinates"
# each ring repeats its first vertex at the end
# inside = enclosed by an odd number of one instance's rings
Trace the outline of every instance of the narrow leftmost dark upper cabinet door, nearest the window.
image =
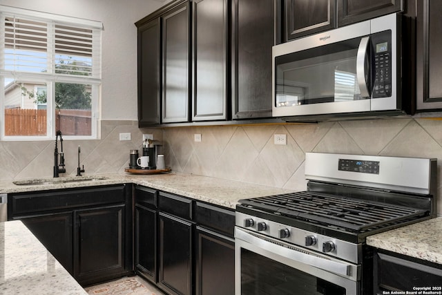
{"type": "Polygon", "coordinates": [[[160,19],[138,28],[138,126],[160,124],[160,19]]]}

